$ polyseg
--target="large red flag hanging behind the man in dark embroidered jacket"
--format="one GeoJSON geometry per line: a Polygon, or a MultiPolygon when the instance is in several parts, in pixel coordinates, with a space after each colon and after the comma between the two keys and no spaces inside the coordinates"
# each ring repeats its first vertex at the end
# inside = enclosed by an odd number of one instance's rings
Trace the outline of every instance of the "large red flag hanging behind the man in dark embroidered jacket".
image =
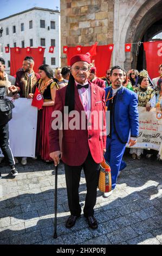
{"type": "MultiPolygon", "coordinates": [[[[28,47],[27,47],[28,48],[28,47]]],[[[43,64],[43,56],[45,48],[42,48],[41,53],[38,48],[30,48],[30,52],[27,52],[27,48],[11,47],[10,48],[10,75],[14,76],[16,71],[22,67],[23,60],[27,56],[34,58],[34,71],[37,73],[39,66],[43,64]],[[16,52],[16,48],[18,51],[16,52]]]]}

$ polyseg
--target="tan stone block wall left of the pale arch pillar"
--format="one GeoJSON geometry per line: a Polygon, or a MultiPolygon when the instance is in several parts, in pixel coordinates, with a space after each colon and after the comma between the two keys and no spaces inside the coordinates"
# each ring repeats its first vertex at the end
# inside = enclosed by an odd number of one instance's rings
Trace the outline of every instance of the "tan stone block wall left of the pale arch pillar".
{"type": "Polygon", "coordinates": [[[112,44],[113,19],[114,0],[61,0],[61,65],[63,45],[112,44]]]}

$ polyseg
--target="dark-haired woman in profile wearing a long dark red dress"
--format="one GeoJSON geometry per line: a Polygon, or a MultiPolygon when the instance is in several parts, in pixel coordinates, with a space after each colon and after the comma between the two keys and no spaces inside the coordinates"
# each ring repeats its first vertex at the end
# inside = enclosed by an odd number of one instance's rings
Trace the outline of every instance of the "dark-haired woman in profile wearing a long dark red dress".
{"type": "MultiPolygon", "coordinates": [[[[37,119],[37,138],[36,138],[36,155],[41,156],[41,159],[50,162],[49,156],[49,125],[51,114],[54,109],[56,90],[59,86],[54,81],[53,70],[49,65],[42,65],[38,69],[40,79],[37,81],[37,88],[43,96],[42,109],[38,111],[37,119]]],[[[31,97],[33,95],[30,94],[31,97]]]]}

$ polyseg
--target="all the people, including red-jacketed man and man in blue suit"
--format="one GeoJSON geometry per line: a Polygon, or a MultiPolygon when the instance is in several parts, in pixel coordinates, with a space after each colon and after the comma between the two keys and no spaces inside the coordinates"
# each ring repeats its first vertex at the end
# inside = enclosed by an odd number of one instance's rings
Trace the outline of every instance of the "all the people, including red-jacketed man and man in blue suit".
{"type": "MultiPolygon", "coordinates": [[[[112,193],[120,171],[126,166],[122,161],[126,143],[128,142],[129,147],[132,147],[137,142],[138,106],[146,107],[146,111],[150,111],[152,107],[162,107],[162,64],[159,66],[159,77],[153,80],[146,70],[139,72],[132,69],[127,72],[120,66],[108,69],[105,77],[99,78],[96,74],[96,67],[90,63],[90,58],[86,54],[74,56],[70,60],[70,66],[56,68],[54,73],[49,65],[41,65],[38,74],[34,71],[34,59],[27,56],[22,68],[16,72],[16,78],[5,72],[4,59],[0,58],[0,100],[4,99],[5,95],[12,96],[14,99],[18,97],[32,99],[36,87],[43,96],[43,106],[38,111],[36,157],[34,159],[41,157],[46,163],[54,162],[56,165],[60,161],[60,155],[62,157],[71,212],[66,223],[67,228],[75,224],[76,218],[81,213],[78,188],[82,167],[87,184],[84,215],[89,227],[97,228],[98,223],[94,218],[93,208],[96,202],[99,163],[102,161],[102,156],[105,156],[105,160],[111,166],[112,193]],[[53,120],[51,113],[58,109],[62,111],[63,106],[68,106],[69,111],[78,107],[78,110],[84,110],[89,118],[88,111],[92,111],[94,103],[94,109],[96,108],[97,111],[108,110],[111,113],[109,135],[100,136],[99,132],[90,133],[87,130],[82,133],[80,131],[80,134],[63,130],[61,142],[59,132],[51,129],[53,120]],[[131,137],[129,137],[130,131],[131,137]],[[92,172],[89,169],[92,169],[92,172]]],[[[0,124],[0,128],[0,147],[11,167],[12,176],[16,176],[18,172],[15,163],[19,160],[12,156],[9,147],[8,123],[3,126],[0,124]]],[[[140,160],[142,153],[143,149],[131,148],[130,150],[133,160],[140,160]]],[[[151,157],[152,150],[148,153],[147,157],[151,157]]],[[[22,157],[21,163],[27,164],[26,156],[22,157]]],[[[104,193],[103,196],[108,197],[111,193],[104,193]]]]}

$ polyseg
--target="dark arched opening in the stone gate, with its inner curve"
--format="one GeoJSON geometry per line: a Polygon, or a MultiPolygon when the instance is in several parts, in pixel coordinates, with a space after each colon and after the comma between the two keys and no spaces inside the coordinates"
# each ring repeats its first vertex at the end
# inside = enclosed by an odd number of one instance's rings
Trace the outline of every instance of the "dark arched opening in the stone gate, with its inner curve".
{"type": "MultiPolygon", "coordinates": [[[[125,43],[149,41],[151,38],[162,31],[161,20],[162,1],[146,1],[134,15],[127,29],[125,43]],[[155,3],[156,2],[156,3],[155,3]]],[[[146,68],[144,47],[138,48],[137,44],[132,45],[132,51],[125,53],[124,66],[126,70],[146,68]]]]}

